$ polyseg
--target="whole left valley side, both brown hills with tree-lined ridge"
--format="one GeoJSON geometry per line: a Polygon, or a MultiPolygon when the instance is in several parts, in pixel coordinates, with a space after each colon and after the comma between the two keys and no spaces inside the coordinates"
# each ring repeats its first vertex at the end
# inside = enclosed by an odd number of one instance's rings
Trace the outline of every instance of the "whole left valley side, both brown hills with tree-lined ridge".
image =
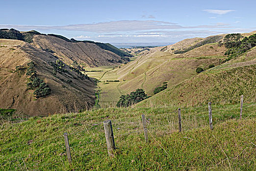
{"type": "Polygon", "coordinates": [[[96,80],[86,68],[128,61],[96,43],[34,30],[1,29],[0,38],[0,108],[16,109],[12,117],[89,109],[96,80]]]}

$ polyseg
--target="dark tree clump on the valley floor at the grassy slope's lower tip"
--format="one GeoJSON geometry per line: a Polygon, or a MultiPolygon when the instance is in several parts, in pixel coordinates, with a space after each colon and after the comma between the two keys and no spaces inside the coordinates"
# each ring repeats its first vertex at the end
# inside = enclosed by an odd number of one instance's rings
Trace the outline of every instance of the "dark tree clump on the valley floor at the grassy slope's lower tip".
{"type": "Polygon", "coordinates": [[[122,95],[117,103],[117,107],[129,107],[147,98],[149,98],[149,96],[143,89],[136,89],[136,91],[133,91],[130,94],[122,95]]]}

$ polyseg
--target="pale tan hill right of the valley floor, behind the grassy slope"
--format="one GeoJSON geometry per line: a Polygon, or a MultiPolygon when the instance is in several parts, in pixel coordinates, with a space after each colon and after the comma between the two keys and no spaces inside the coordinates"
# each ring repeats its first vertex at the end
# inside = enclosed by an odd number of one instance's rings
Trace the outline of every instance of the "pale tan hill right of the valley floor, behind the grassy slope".
{"type": "MultiPolygon", "coordinates": [[[[198,43],[198,40],[203,41],[208,38],[184,40],[174,46],[182,48],[195,41],[198,43]]],[[[144,89],[148,95],[154,95],[154,89],[161,86],[163,82],[167,82],[168,86],[176,85],[197,75],[197,67],[207,69],[210,64],[219,65],[227,58],[224,55],[227,48],[223,45],[219,46],[218,43],[206,43],[182,54],[175,54],[168,50],[163,51],[162,49],[165,47],[152,48],[128,64],[121,64],[113,70],[99,72],[97,79],[101,80],[101,83],[98,83],[100,105],[115,105],[121,95],[128,94],[137,88],[144,89]],[[107,80],[119,80],[120,82],[105,84],[104,82],[107,80]]],[[[92,77],[96,76],[95,72],[86,72],[86,74],[92,77]]]]}

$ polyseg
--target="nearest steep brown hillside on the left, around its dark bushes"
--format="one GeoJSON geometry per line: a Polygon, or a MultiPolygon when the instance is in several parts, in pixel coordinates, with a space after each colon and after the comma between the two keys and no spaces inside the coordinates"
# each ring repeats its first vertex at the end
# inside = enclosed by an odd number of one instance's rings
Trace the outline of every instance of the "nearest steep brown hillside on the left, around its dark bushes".
{"type": "Polygon", "coordinates": [[[14,108],[16,114],[25,115],[86,109],[94,105],[94,88],[93,79],[61,63],[52,53],[23,41],[0,39],[0,108],[14,108]],[[35,89],[27,89],[31,62],[36,77],[51,88],[46,97],[36,99],[35,89]]]}

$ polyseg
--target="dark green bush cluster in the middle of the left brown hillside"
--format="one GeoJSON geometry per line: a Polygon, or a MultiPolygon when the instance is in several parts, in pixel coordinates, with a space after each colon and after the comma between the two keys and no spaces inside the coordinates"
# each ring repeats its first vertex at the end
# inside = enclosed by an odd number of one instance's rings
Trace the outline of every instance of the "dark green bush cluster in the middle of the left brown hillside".
{"type": "Polygon", "coordinates": [[[51,93],[51,88],[48,84],[44,83],[44,81],[40,78],[37,78],[37,72],[34,70],[34,63],[30,62],[27,64],[28,68],[26,71],[26,75],[29,76],[30,82],[27,83],[27,89],[33,89],[34,95],[38,99],[40,97],[45,97],[46,95],[51,93]]]}

